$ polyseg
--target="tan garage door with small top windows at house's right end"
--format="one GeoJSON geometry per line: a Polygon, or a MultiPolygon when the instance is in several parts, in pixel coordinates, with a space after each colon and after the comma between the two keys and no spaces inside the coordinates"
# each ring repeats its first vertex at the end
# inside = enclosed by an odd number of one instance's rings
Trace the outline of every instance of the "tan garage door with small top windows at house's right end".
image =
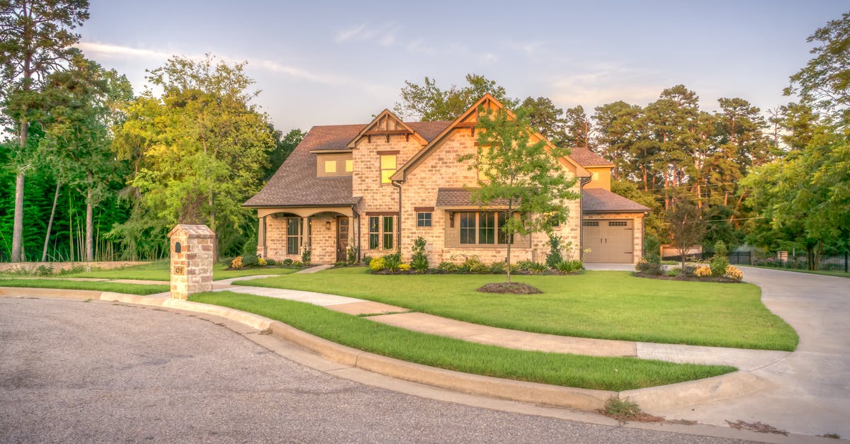
{"type": "Polygon", "coordinates": [[[634,220],[584,220],[581,222],[581,248],[584,261],[631,264],[634,248],[634,220]],[[590,252],[587,253],[587,249],[590,252]]]}

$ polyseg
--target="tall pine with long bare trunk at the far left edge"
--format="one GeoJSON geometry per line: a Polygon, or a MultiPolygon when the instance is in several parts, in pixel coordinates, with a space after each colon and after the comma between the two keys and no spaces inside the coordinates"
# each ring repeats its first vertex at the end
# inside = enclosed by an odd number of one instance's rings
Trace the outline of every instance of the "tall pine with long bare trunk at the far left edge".
{"type": "Polygon", "coordinates": [[[88,1],[28,0],[0,1],[0,95],[5,114],[17,123],[19,150],[13,153],[16,165],[13,262],[23,260],[21,254],[24,224],[24,179],[32,166],[31,144],[27,143],[31,110],[37,106],[37,89],[41,80],[68,60],[79,36],[70,30],[88,20],[88,1]]]}

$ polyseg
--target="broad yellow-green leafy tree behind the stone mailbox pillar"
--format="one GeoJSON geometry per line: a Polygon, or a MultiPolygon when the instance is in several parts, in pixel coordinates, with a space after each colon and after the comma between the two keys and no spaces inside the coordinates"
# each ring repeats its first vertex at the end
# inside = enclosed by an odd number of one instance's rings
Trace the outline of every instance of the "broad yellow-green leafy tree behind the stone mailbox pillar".
{"type": "Polygon", "coordinates": [[[130,185],[141,203],[116,234],[176,223],[207,224],[218,236],[242,230],[251,213],[241,203],[258,191],[275,144],[267,116],[251,103],[258,92],[244,66],[207,55],[173,57],[150,71],[162,95],[146,92],[128,104],[116,131],[118,152],[135,165],[130,185]],[[136,226],[151,217],[149,226],[136,226]]]}

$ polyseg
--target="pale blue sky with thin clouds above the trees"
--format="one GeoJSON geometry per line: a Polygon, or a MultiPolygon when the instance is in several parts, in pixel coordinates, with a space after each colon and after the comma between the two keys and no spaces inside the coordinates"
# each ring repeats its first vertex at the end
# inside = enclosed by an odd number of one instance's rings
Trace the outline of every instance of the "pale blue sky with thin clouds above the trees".
{"type": "Polygon", "coordinates": [[[474,72],[513,97],[564,109],[646,105],[683,83],[706,110],[742,97],[786,103],[806,42],[846,0],[703,2],[273,2],[92,0],[80,48],[126,74],[168,56],[246,60],[277,128],[368,122],[405,80],[463,84],[474,72]]]}

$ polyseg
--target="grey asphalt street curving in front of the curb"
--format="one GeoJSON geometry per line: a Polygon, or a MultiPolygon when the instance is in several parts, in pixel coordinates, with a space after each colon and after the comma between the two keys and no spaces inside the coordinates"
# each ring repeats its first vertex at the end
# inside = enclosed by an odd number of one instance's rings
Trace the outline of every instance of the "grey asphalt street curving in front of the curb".
{"type": "Polygon", "coordinates": [[[0,442],[740,442],[407,395],[197,316],[0,298],[0,442]]]}

